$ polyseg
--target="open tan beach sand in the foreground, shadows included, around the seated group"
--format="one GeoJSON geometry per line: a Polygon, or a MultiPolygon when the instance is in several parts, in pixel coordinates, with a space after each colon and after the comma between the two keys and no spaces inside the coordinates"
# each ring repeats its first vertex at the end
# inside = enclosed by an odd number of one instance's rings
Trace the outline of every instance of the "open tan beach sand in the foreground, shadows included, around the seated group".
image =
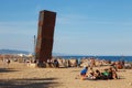
{"type": "MultiPolygon", "coordinates": [[[[121,79],[75,79],[82,68],[29,68],[11,63],[9,68],[0,62],[0,88],[132,88],[132,69],[120,69],[121,79]]],[[[103,69],[96,67],[94,69],[103,69]]]]}

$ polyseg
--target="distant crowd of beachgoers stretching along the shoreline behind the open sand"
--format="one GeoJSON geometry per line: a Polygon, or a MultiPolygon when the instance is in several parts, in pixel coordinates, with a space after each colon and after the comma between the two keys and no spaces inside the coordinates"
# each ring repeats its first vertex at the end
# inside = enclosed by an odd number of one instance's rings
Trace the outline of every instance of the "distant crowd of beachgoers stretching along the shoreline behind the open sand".
{"type": "MultiPolygon", "coordinates": [[[[0,59],[4,63],[19,62],[26,64],[35,64],[38,66],[38,59],[35,59],[33,55],[19,56],[19,55],[0,55],[0,59]]],[[[54,56],[51,59],[42,63],[42,67],[100,67],[100,66],[114,66],[116,68],[132,68],[132,62],[125,62],[124,59],[111,61],[99,59],[96,57],[81,57],[81,58],[64,58],[61,56],[54,56]]],[[[41,66],[40,66],[41,67],[41,66]]]]}

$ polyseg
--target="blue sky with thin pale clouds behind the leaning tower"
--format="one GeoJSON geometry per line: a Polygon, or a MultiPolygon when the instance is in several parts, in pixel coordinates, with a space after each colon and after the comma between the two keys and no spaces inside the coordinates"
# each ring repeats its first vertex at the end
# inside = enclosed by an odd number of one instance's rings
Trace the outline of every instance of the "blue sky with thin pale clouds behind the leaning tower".
{"type": "Polygon", "coordinates": [[[0,50],[33,52],[42,10],[57,13],[53,53],[132,55],[132,0],[0,0],[0,50]]]}

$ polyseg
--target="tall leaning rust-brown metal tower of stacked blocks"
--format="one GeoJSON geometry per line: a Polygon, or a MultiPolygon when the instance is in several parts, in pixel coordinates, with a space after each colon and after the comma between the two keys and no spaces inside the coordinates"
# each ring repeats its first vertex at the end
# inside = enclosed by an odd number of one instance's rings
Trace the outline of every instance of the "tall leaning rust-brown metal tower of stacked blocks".
{"type": "Polygon", "coordinates": [[[35,58],[41,63],[52,58],[55,20],[56,12],[46,10],[40,12],[35,58]]]}

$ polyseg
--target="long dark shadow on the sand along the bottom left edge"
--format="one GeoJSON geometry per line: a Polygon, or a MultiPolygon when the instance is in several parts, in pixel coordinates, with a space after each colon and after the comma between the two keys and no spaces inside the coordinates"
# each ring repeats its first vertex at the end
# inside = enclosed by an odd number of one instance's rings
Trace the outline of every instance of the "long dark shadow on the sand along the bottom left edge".
{"type": "Polygon", "coordinates": [[[0,88],[56,88],[57,78],[0,79],[0,88]]]}

